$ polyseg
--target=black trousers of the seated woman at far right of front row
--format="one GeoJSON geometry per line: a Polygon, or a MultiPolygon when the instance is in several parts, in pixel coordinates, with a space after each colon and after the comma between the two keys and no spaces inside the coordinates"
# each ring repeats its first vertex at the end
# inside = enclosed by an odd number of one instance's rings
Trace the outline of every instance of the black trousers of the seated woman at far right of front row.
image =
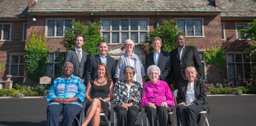
{"type": "Polygon", "coordinates": [[[186,108],[181,104],[178,105],[177,111],[182,126],[197,126],[197,113],[204,111],[204,107],[203,105],[191,104],[186,108]]]}

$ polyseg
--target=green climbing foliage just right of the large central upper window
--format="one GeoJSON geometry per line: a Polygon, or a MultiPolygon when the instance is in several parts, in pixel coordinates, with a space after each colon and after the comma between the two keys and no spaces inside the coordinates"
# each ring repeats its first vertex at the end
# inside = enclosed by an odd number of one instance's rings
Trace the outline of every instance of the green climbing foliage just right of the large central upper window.
{"type": "Polygon", "coordinates": [[[145,36],[145,43],[148,43],[148,50],[153,52],[152,39],[154,37],[159,37],[162,39],[161,49],[170,52],[172,49],[177,47],[176,45],[176,36],[178,34],[185,35],[184,32],[180,32],[178,26],[175,25],[175,19],[172,20],[163,20],[162,26],[157,26],[156,29],[150,30],[147,32],[148,36],[145,36]]]}

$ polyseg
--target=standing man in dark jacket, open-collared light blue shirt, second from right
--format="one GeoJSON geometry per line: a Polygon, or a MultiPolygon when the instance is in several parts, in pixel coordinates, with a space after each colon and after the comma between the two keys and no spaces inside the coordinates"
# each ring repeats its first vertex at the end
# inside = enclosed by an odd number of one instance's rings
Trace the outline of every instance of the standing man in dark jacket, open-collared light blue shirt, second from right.
{"type": "Polygon", "coordinates": [[[152,39],[152,46],[154,51],[149,53],[146,57],[145,73],[147,74],[149,66],[156,65],[161,70],[159,78],[169,84],[169,73],[171,69],[170,54],[160,49],[162,46],[162,39],[159,37],[152,39]]]}

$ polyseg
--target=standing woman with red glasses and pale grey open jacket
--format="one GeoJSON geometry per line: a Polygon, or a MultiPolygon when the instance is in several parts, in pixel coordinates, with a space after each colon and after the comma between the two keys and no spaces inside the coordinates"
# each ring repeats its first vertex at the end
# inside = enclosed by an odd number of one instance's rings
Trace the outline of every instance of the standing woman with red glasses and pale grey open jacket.
{"type": "Polygon", "coordinates": [[[136,74],[134,74],[133,80],[140,83],[141,87],[144,83],[144,76],[146,76],[144,66],[140,59],[140,56],[133,53],[134,42],[131,39],[127,39],[124,42],[125,53],[123,56],[120,56],[118,64],[116,66],[115,78],[119,80],[123,80],[125,76],[123,75],[124,67],[132,66],[136,70],[136,74]]]}

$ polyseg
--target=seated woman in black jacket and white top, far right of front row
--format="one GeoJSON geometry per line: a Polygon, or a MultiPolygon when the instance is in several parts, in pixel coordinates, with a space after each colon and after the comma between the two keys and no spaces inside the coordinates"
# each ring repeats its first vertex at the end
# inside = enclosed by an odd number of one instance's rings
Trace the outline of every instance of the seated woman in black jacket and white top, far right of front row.
{"type": "Polygon", "coordinates": [[[178,87],[178,116],[182,126],[197,126],[196,114],[210,109],[206,102],[206,89],[204,80],[197,80],[195,67],[189,66],[185,70],[187,80],[181,81],[178,87]]]}

